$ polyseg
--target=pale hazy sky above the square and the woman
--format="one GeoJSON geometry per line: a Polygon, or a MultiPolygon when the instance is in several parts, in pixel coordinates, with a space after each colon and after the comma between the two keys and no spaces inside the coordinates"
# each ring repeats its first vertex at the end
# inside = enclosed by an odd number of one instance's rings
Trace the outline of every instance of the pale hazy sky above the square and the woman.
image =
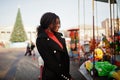
{"type": "MultiPolygon", "coordinates": [[[[84,23],[92,25],[92,0],[79,2],[78,10],[78,0],[0,0],[0,26],[14,26],[18,7],[25,27],[38,26],[45,12],[54,12],[60,17],[61,29],[84,23]]],[[[100,26],[101,21],[109,18],[109,4],[95,2],[94,12],[95,25],[100,26]]]]}

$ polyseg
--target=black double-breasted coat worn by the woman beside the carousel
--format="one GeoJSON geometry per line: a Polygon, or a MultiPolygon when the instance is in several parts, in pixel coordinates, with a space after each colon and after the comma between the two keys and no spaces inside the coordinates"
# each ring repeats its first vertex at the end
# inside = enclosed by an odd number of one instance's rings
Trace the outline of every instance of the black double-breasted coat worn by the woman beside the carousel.
{"type": "Polygon", "coordinates": [[[44,31],[41,31],[36,39],[38,52],[44,61],[42,80],[67,80],[71,76],[65,39],[61,37],[61,33],[54,34],[63,45],[63,49],[44,31]]]}

